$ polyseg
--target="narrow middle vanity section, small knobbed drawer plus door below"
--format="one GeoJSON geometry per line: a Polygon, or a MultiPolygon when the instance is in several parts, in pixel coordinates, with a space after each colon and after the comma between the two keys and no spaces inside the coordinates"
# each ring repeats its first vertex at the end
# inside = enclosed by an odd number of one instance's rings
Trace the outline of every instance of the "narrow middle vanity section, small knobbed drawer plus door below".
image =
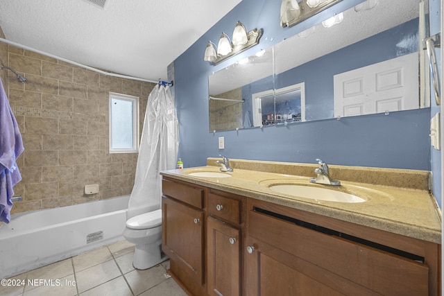
{"type": "Polygon", "coordinates": [[[245,198],[210,189],[207,195],[207,293],[241,294],[245,198]]]}

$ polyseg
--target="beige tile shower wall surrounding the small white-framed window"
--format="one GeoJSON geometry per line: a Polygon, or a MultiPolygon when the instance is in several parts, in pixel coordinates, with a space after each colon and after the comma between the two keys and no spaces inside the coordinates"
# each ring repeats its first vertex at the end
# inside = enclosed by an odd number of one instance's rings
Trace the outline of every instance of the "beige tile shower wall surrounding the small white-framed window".
{"type": "Polygon", "coordinates": [[[15,202],[12,213],[129,194],[137,153],[108,153],[108,93],[139,97],[142,131],[155,85],[104,76],[2,42],[0,60],[28,79],[22,84],[12,72],[0,71],[25,147],[17,161],[23,179],[14,188],[23,202],[15,202]],[[99,193],[85,195],[87,184],[99,184],[99,193]]]}

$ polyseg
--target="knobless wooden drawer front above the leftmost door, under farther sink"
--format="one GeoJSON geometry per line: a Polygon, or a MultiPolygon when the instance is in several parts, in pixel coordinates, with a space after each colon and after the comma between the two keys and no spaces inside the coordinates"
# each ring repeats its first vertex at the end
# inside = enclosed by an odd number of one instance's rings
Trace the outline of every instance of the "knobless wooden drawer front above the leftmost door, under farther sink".
{"type": "Polygon", "coordinates": [[[163,179],[162,192],[170,198],[175,198],[198,209],[203,209],[204,189],[163,179]]]}

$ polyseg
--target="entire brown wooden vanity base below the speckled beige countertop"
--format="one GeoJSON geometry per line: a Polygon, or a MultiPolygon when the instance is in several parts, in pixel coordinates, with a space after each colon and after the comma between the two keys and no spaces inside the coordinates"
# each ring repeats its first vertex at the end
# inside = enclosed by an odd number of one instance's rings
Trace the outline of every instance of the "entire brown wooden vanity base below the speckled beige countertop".
{"type": "Polygon", "coordinates": [[[189,295],[440,295],[441,245],[164,177],[162,250],[189,295]]]}

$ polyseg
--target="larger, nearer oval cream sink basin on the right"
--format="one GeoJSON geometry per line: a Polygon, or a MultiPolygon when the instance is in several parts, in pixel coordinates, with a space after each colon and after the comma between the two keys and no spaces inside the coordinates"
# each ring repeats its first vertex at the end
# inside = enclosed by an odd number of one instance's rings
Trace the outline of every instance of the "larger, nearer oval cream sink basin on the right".
{"type": "Polygon", "coordinates": [[[329,202],[365,202],[363,198],[349,193],[332,189],[302,186],[295,184],[272,185],[268,187],[272,191],[287,195],[298,196],[300,198],[311,198],[314,200],[326,200],[329,202]]]}

